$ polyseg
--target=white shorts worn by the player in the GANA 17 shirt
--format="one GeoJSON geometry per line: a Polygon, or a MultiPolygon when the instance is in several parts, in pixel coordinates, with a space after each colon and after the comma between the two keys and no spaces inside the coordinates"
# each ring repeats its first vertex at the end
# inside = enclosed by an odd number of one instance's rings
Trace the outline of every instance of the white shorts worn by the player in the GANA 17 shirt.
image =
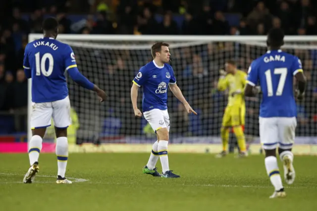
{"type": "Polygon", "coordinates": [[[291,149],[295,140],[296,117],[259,118],[260,140],[264,150],[291,149]]]}

